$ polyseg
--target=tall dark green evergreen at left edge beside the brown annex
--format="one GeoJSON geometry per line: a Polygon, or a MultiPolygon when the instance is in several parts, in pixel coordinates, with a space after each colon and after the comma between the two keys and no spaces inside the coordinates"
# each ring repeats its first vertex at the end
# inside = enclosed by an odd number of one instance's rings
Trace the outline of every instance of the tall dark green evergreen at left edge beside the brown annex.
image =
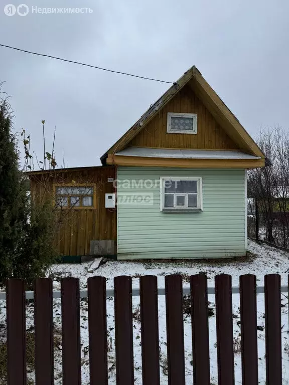
{"type": "Polygon", "coordinates": [[[55,218],[49,201],[35,205],[30,199],[10,111],[7,98],[0,98],[0,285],[23,278],[31,286],[57,256],[55,218]]]}

